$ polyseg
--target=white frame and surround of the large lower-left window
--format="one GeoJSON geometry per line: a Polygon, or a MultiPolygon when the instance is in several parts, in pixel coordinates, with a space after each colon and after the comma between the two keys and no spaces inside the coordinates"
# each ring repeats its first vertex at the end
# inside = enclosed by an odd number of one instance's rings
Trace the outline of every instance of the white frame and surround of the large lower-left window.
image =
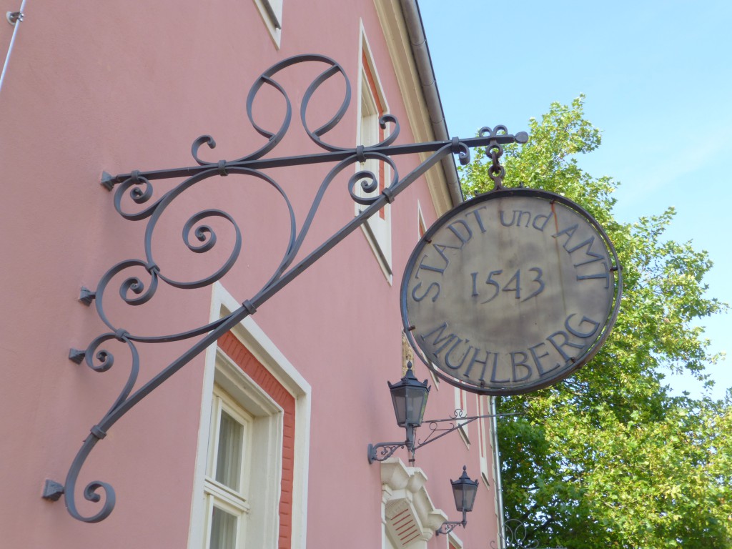
{"type": "MultiPolygon", "coordinates": [[[[241,304],[234,299],[221,283],[212,288],[212,306],[209,318],[218,320],[237,310],[241,304]]],[[[293,397],[295,403],[294,464],[292,471],[292,529],[291,549],[305,549],[307,539],[307,472],[310,456],[310,408],[312,389],[305,378],[288,361],[264,331],[251,317],[234,326],[231,332],[255,356],[258,362],[274,376],[293,397]]],[[[255,417],[255,423],[266,419],[270,424],[259,423],[253,430],[253,447],[263,444],[258,432],[275,433],[268,436],[266,446],[259,452],[266,461],[258,465],[252,461],[256,474],[252,476],[250,490],[257,495],[250,510],[250,529],[247,547],[276,547],[279,537],[279,501],[282,474],[282,410],[266,392],[258,389],[255,382],[238,365],[231,362],[217,346],[206,349],[206,367],[203,373],[201,399],[201,428],[198,436],[198,452],[193,479],[193,500],[188,534],[188,549],[201,549],[207,543],[207,513],[205,483],[208,466],[209,425],[213,409],[214,385],[221,386],[234,397],[244,409],[255,417]],[[242,390],[247,389],[247,390],[242,390]],[[262,412],[261,410],[265,410],[262,412]],[[267,411],[269,410],[269,411],[267,411]],[[259,428],[259,429],[258,429],[259,428]],[[270,471],[267,463],[276,460],[277,466],[270,471]],[[271,476],[271,479],[266,477],[271,476]],[[258,488],[255,482],[269,482],[268,488],[258,488]],[[263,520],[258,513],[266,512],[263,520]],[[255,525],[255,526],[253,526],[255,525]],[[260,532],[258,532],[260,531],[260,532]],[[265,539],[266,538],[266,539],[265,539]]]]}

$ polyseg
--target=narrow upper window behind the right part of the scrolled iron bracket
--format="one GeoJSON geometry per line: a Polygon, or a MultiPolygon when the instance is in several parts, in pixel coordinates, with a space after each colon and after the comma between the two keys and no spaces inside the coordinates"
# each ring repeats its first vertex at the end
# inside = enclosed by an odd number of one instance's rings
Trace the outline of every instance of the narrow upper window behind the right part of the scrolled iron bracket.
{"type": "MultiPolygon", "coordinates": [[[[361,29],[361,70],[359,71],[359,123],[357,140],[359,145],[372,146],[384,141],[389,135],[389,125],[382,128],[379,121],[389,112],[386,105],[384,91],[373,62],[371,51],[361,29]]],[[[356,171],[367,170],[378,179],[378,186],[373,192],[366,193],[360,184],[356,184],[356,193],[361,196],[376,196],[381,194],[384,186],[391,181],[389,165],[378,160],[368,159],[364,163],[356,164],[356,171]]],[[[356,214],[362,212],[365,206],[356,204],[356,214]]],[[[389,283],[392,282],[392,220],[391,206],[387,204],[378,214],[374,214],[362,228],[373,249],[374,255],[389,283]]]]}

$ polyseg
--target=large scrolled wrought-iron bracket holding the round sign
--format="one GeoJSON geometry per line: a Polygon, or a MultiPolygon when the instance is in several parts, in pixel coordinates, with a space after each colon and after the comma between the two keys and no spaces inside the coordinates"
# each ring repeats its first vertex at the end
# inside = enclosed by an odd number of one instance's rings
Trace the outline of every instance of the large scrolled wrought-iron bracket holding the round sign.
{"type": "MultiPolygon", "coordinates": [[[[446,157],[448,154],[458,154],[460,161],[467,163],[469,161],[469,151],[474,147],[501,146],[506,143],[526,143],[528,138],[525,132],[520,132],[516,135],[509,135],[507,132],[489,132],[489,135],[468,139],[453,138],[448,141],[396,145],[394,143],[399,135],[399,123],[395,116],[387,114],[379,122],[382,127],[388,125],[390,131],[387,132],[388,135],[380,143],[372,146],[338,146],[325,141],[328,132],[346,115],[350,102],[351,83],[348,81],[346,71],[340,64],[329,57],[317,54],[290,57],[264,71],[257,78],[247,96],[247,116],[249,122],[254,130],[264,138],[264,143],[258,149],[234,160],[206,160],[204,155],[201,154],[202,150],[214,149],[216,141],[210,135],[202,135],[196,138],[191,146],[191,154],[195,165],[157,171],[131,171],[130,173],[121,173],[114,176],[107,172],[102,173],[102,187],[113,192],[113,206],[117,213],[126,220],[143,221],[146,223],[144,237],[145,253],[141,258],[127,259],[111,266],[102,275],[100,282],[97,284],[97,288],[93,290],[83,288],[80,298],[81,302],[89,307],[91,307],[92,303],[94,304],[97,315],[108,326],[108,332],[104,332],[91,340],[91,343],[89,343],[86,349],[72,349],[68,357],[72,362],[78,364],[85,363],[86,366],[96,372],[105,372],[120,362],[119,356],[115,356],[105,348],[106,343],[112,342],[117,347],[122,346],[129,354],[126,357],[129,365],[129,375],[127,382],[122,387],[119,396],[111,408],[109,408],[97,424],[91,427],[89,436],[83,441],[81,449],[72,461],[65,482],[61,484],[52,479],[46,480],[43,491],[44,498],[50,501],[56,501],[63,495],[70,515],[83,522],[96,523],[107,518],[116,504],[112,486],[101,481],[92,481],[86,485],[86,488],[83,489],[83,497],[87,501],[99,503],[102,501],[102,495],[104,496],[104,501],[101,503],[99,511],[89,516],[82,515],[78,512],[75,504],[76,483],[81,468],[86,462],[86,458],[89,456],[91,450],[104,438],[110,428],[127,411],[130,411],[130,408],[173,376],[174,373],[184,367],[195,356],[201,354],[204,349],[212,345],[212,343],[215,343],[221,335],[234,328],[236,324],[239,324],[247,316],[253,314],[258,307],[264,305],[267,300],[277,294],[285,285],[294,280],[295,277],[300,275],[305,269],[315,263],[315,261],[318,261],[332,247],[335,247],[336,244],[345,239],[348,234],[351,234],[356,228],[366,223],[369,217],[376,214],[387,203],[394,201],[397,195],[410,184],[417,181],[419,177],[443,157],[446,157]],[[307,136],[321,149],[321,152],[298,156],[275,157],[271,153],[285,137],[285,134],[290,129],[293,118],[292,102],[285,91],[285,86],[278,80],[278,76],[280,72],[285,71],[288,67],[305,63],[310,64],[311,67],[321,67],[321,72],[313,78],[302,100],[300,100],[300,121],[307,136]],[[340,78],[343,81],[343,100],[340,101],[340,105],[335,102],[335,113],[332,114],[329,120],[320,127],[310,128],[307,124],[306,116],[310,100],[322,84],[333,78],[340,78]],[[257,97],[261,89],[268,89],[270,92],[274,91],[283,97],[285,112],[277,128],[268,129],[261,127],[254,120],[253,105],[255,97],[257,97]],[[406,176],[400,177],[393,157],[401,154],[417,153],[429,153],[430,156],[420,163],[417,168],[414,168],[413,171],[406,174],[406,176]],[[381,182],[381,185],[374,184],[377,178],[375,174],[370,172],[364,173],[356,169],[356,166],[362,160],[376,160],[381,163],[387,163],[392,173],[391,180],[381,182]],[[327,175],[319,184],[305,220],[302,221],[302,224],[298,225],[296,223],[294,208],[287,193],[264,170],[267,168],[296,168],[297,166],[321,163],[332,164],[332,168],[330,168],[327,175]],[[348,193],[354,202],[365,207],[353,219],[343,225],[339,231],[332,234],[325,242],[302,258],[299,263],[295,264],[296,255],[302,247],[302,242],[308,234],[310,225],[313,223],[313,219],[318,212],[318,207],[321,205],[326,190],[329,189],[336,177],[344,171],[356,172],[356,175],[351,176],[348,180],[348,193]],[[160,285],[168,285],[172,288],[182,290],[206,288],[216,283],[217,280],[220,280],[234,266],[242,250],[242,234],[234,215],[224,212],[221,209],[203,209],[193,214],[184,223],[182,231],[184,245],[191,253],[197,254],[205,254],[209,250],[214,249],[217,242],[220,242],[216,231],[214,231],[214,226],[209,224],[211,220],[217,220],[219,225],[223,223],[225,226],[231,228],[232,239],[234,240],[234,243],[231,245],[231,253],[228,254],[228,257],[225,258],[223,263],[214,265],[213,272],[201,280],[180,280],[179,277],[176,277],[175,273],[168,272],[156,262],[152,247],[153,234],[157,222],[168,207],[178,203],[176,202],[176,198],[206,179],[231,176],[234,174],[248,176],[258,183],[269,185],[279,195],[289,215],[289,242],[280,264],[272,272],[269,280],[253,296],[250,296],[249,299],[243,299],[241,301],[242,306],[234,310],[234,312],[216,321],[209,322],[209,324],[202,324],[201,326],[188,329],[185,332],[168,335],[147,335],[146,333],[139,333],[132,328],[125,329],[123,326],[118,326],[109,318],[108,312],[105,310],[105,300],[111,299],[111,296],[108,294],[117,294],[119,299],[122,299],[123,305],[135,307],[151,302],[156,296],[157,288],[160,285]],[[154,198],[154,182],[159,179],[182,179],[182,181],[177,182],[171,190],[154,198]],[[354,190],[357,184],[362,185],[363,192],[356,192],[354,190]],[[382,188],[383,190],[377,194],[376,190],[378,188],[382,188]],[[370,193],[370,189],[373,189],[374,192],[370,193]],[[116,291],[107,292],[109,288],[115,286],[113,279],[118,276],[124,278],[122,284],[116,286],[116,291]],[[195,338],[198,339],[196,340],[195,338]],[[137,386],[138,372],[140,370],[138,345],[170,343],[182,340],[192,340],[194,343],[192,343],[187,351],[161,370],[160,373],[157,373],[157,375],[141,386],[137,386]]],[[[390,452],[389,455],[399,447],[399,443],[395,444],[397,446],[393,449],[385,450],[386,452],[390,452]]]]}

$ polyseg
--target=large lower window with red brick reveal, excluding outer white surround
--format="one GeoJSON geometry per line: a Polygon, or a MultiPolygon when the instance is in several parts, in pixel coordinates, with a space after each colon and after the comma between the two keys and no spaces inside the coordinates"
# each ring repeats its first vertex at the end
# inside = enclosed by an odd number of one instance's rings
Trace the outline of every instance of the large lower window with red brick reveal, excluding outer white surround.
{"type": "Polygon", "coordinates": [[[290,542],[293,395],[228,332],[216,350],[210,406],[203,542],[198,548],[275,547],[290,542]]]}

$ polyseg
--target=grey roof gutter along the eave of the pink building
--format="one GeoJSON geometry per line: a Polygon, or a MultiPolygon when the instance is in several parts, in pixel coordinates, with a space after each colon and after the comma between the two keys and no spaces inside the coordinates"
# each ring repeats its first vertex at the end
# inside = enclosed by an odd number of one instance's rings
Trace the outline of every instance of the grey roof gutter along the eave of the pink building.
{"type": "MultiPolygon", "coordinates": [[[[425,27],[422,25],[422,15],[419,13],[419,5],[417,4],[417,0],[401,0],[401,7],[435,139],[447,141],[450,139],[450,135],[447,132],[447,122],[445,122],[445,113],[442,110],[440,92],[437,89],[435,71],[432,66],[432,58],[430,57],[430,48],[427,47],[425,27]]],[[[463,191],[460,189],[458,168],[455,168],[455,158],[452,155],[448,155],[441,162],[445,177],[447,178],[447,187],[450,198],[452,198],[452,204],[453,206],[457,206],[464,201],[464,198],[463,191]]]]}

